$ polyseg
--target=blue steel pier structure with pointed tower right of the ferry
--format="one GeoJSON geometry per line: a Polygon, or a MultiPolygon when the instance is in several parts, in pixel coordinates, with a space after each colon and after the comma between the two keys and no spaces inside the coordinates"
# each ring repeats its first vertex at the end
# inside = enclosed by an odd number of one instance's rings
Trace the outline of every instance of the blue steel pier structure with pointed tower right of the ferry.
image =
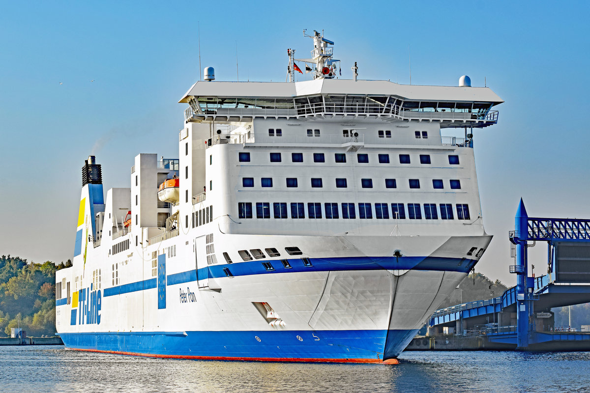
{"type": "MultiPolygon", "coordinates": [[[[516,286],[501,296],[434,312],[431,332],[485,336],[486,349],[590,349],[590,332],[555,326],[552,308],[590,302],[590,220],[529,217],[523,200],[510,231],[516,286]],[[547,274],[528,276],[527,250],[547,242],[547,274]]],[[[482,348],[483,349],[483,348],[482,348]]]]}

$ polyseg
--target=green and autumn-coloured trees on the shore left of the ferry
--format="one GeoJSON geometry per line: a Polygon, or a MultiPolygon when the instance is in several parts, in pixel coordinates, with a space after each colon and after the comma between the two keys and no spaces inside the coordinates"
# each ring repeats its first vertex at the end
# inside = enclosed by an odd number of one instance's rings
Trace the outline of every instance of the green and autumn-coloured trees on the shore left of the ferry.
{"type": "Polygon", "coordinates": [[[55,335],[55,270],[68,266],[0,257],[0,336],[18,326],[27,336],[55,335]]]}

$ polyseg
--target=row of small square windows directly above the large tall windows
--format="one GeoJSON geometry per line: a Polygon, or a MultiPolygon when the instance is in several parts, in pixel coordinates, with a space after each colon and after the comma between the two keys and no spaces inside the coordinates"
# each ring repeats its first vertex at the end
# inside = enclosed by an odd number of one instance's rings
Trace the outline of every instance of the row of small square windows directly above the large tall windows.
{"type": "MultiPolygon", "coordinates": [[[[336,178],[336,188],[345,189],[348,187],[348,181],[345,178],[336,178]]],[[[297,177],[287,177],[286,179],[287,187],[295,188],[299,187],[299,181],[297,177]]],[[[321,177],[312,177],[311,179],[312,188],[322,188],[323,187],[323,180],[321,177]]],[[[261,177],[260,178],[260,186],[261,187],[273,187],[273,178],[272,177],[261,177]]],[[[363,189],[372,189],[373,188],[373,179],[360,179],[360,186],[363,189]]],[[[411,189],[419,189],[420,188],[420,180],[419,179],[408,179],[408,186],[411,189]]],[[[458,179],[451,179],[449,180],[449,186],[451,190],[460,190],[461,189],[461,180],[458,179]]],[[[242,187],[254,187],[254,177],[242,177],[242,187]]],[[[397,181],[395,179],[385,179],[385,188],[386,189],[396,189],[398,187],[397,181]]],[[[442,179],[432,179],[432,188],[433,189],[444,189],[444,183],[442,179]]]]}

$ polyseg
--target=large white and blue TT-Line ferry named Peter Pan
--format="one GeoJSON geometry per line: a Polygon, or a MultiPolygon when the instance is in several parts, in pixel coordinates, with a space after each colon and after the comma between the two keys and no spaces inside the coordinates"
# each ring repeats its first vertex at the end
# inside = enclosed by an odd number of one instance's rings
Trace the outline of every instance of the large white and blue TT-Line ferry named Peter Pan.
{"type": "Polygon", "coordinates": [[[105,195],[86,160],[73,266],[56,272],[67,348],[395,363],[473,269],[491,240],[473,130],[503,101],[466,76],[401,85],[355,63],[344,80],[333,42],[309,37],[286,82],[206,68],[179,101],[179,157],[137,155],[130,187],[105,195]]]}

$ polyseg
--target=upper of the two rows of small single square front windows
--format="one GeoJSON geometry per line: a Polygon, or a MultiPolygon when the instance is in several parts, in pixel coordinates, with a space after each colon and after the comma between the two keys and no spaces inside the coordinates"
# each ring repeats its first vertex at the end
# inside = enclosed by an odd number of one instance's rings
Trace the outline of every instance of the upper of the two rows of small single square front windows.
{"type": "MultiPolygon", "coordinates": [[[[280,163],[283,161],[283,156],[281,153],[270,153],[270,162],[271,163],[280,163]]],[[[380,164],[389,164],[391,161],[389,160],[389,154],[378,154],[378,161],[380,164]]],[[[411,158],[409,154],[398,154],[399,163],[400,164],[411,164],[411,158]]],[[[238,160],[241,163],[248,163],[250,162],[250,152],[241,151],[238,154],[238,160]]],[[[369,163],[369,154],[366,153],[357,153],[356,160],[358,163],[361,164],[368,164],[369,163]]],[[[419,160],[421,164],[431,164],[430,154],[419,154],[419,160]]],[[[303,153],[291,153],[291,162],[293,163],[302,163],[303,162],[303,153]]],[[[325,163],[326,162],[326,155],[324,153],[313,153],[313,162],[314,163],[325,163]]],[[[346,154],[345,153],[334,153],[334,162],[335,163],[346,163],[346,154]]],[[[458,165],[459,164],[459,156],[456,154],[450,154],[448,156],[448,163],[451,165],[458,165]]],[[[188,176],[188,175],[187,175],[188,176]]]]}

